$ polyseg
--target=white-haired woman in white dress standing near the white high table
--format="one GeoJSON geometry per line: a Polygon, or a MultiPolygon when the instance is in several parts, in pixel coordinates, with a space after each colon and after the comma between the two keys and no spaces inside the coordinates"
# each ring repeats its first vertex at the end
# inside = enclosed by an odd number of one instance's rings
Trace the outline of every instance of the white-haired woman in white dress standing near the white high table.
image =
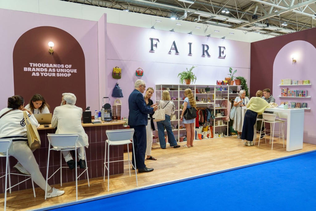
{"type": "Polygon", "coordinates": [[[241,107],[246,106],[249,102],[248,97],[246,97],[245,90],[239,91],[239,96],[234,100],[234,106],[236,106],[236,112],[234,116],[233,128],[237,131],[237,139],[240,139],[241,131],[242,131],[242,110],[241,107]]]}

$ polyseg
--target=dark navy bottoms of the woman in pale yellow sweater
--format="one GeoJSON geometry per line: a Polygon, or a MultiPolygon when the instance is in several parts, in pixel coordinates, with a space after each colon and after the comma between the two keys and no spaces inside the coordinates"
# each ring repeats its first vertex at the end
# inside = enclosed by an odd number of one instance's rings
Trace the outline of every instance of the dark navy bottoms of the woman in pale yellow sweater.
{"type": "Polygon", "coordinates": [[[252,141],[253,140],[253,127],[257,121],[257,112],[247,110],[244,118],[244,124],[242,126],[241,139],[252,141]]]}

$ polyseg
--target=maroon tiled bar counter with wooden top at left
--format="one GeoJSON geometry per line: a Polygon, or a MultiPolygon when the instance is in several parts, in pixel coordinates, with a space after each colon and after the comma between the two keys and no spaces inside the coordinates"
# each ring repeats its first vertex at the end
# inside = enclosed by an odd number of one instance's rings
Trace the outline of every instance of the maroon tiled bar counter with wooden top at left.
{"type": "MultiPolygon", "coordinates": [[[[118,121],[116,123],[103,123],[103,124],[82,124],[85,132],[88,134],[89,138],[89,147],[86,148],[86,155],[87,155],[87,164],[88,164],[88,173],[89,178],[95,177],[103,177],[103,168],[104,168],[104,152],[105,152],[105,141],[106,137],[106,130],[116,130],[116,129],[123,129],[124,121],[118,121]]],[[[37,163],[40,166],[40,171],[44,178],[46,178],[46,171],[47,171],[47,157],[48,157],[48,138],[47,133],[55,133],[56,129],[52,128],[43,128],[41,125],[38,132],[40,134],[41,139],[41,147],[33,152],[34,157],[37,163]]],[[[73,151],[74,152],[74,151],[73,151]]],[[[110,161],[115,160],[123,160],[123,146],[111,146],[110,147],[110,161]]],[[[107,156],[106,156],[107,157],[107,156]]],[[[75,158],[75,154],[73,153],[73,158],[75,158]]],[[[5,175],[5,158],[1,159],[1,166],[0,166],[0,177],[5,175]]],[[[60,160],[60,152],[58,151],[51,151],[50,161],[49,161],[49,172],[48,177],[52,175],[59,168],[59,161],[60,160]]],[[[16,173],[14,171],[13,166],[17,163],[17,160],[10,156],[10,171],[12,173],[16,173]]],[[[62,164],[63,166],[67,166],[63,156],[62,156],[62,164]]],[[[63,176],[62,180],[63,183],[75,181],[76,172],[75,169],[70,170],[69,168],[63,168],[63,176]]],[[[78,175],[79,172],[83,170],[78,168],[78,175]]],[[[110,175],[113,174],[120,174],[124,172],[124,164],[123,161],[110,163],[110,175]]],[[[14,185],[25,179],[25,176],[17,176],[11,175],[11,184],[14,185]]],[[[87,174],[84,173],[79,177],[79,180],[87,179],[87,174]]],[[[4,185],[5,185],[5,177],[0,179],[0,193],[4,192],[4,185]]],[[[48,180],[48,184],[54,185],[60,183],[60,173],[57,172],[52,178],[48,180]]],[[[34,183],[35,187],[38,187],[34,183]]],[[[21,183],[12,188],[12,191],[16,190],[23,190],[32,188],[31,180],[27,182],[21,183]]]]}

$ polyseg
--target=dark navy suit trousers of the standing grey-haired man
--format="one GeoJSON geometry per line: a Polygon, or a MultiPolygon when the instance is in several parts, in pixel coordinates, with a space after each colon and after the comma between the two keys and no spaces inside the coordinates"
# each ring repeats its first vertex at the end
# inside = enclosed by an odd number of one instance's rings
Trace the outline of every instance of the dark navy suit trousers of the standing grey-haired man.
{"type": "Polygon", "coordinates": [[[132,163],[136,168],[143,169],[146,167],[145,165],[145,153],[147,147],[147,137],[146,137],[146,126],[145,125],[137,125],[130,126],[134,128],[134,151],[135,151],[135,159],[134,154],[132,153],[132,163]]]}

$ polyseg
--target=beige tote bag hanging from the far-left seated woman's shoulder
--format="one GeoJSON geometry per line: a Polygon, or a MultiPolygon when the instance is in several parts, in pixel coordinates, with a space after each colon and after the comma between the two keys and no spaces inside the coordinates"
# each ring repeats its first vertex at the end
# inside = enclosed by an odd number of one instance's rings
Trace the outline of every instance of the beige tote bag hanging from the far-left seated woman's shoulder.
{"type": "Polygon", "coordinates": [[[24,115],[24,122],[26,126],[26,132],[27,132],[27,141],[28,146],[31,150],[40,148],[40,135],[39,132],[36,129],[36,126],[31,124],[30,119],[28,118],[27,112],[23,111],[24,115]],[[29,124],[27,123],[29,122],[29,124]]]}

